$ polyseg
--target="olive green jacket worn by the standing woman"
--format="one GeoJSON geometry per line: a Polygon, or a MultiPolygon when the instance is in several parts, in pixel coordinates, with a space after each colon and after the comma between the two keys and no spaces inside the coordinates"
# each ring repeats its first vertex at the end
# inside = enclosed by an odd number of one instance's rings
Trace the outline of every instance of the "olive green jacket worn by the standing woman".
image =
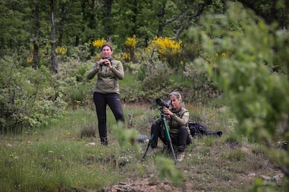
{"type": "Polygon", "coordinates": [[[93,79],[97,74],[94,92],[119,94],[119,80],[124,79],[124,67],[122,63],[117,60],[112,60],[111,70],[105,65],[98,70],[97,66],[98,64],[96,63],[89,74],[87,74],[87,79],[93,79]]]}

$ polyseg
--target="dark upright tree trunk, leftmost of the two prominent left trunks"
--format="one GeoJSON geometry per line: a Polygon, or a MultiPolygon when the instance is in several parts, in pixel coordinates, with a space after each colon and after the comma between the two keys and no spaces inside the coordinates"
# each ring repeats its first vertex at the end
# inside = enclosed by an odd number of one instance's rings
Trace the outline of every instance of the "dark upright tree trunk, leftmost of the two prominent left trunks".
{"type": "Polygon", "coordinates": [[[39,29],[40,29],[40,22],[39,22],[39,5],[38,2],[35,4],[34,10],[34,50],[33,50],[33,68],[36,70],[38,68],[38,50],[39,50],[39,29]]]}

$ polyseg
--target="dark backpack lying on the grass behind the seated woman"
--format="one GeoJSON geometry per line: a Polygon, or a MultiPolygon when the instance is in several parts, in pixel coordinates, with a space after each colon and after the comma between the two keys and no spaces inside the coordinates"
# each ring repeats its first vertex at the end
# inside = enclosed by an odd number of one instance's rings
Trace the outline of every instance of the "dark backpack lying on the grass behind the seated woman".
{"type": "Polygon", "coordinates": [[[198,122],[188,122],[188,128],[191,131],[191,135],[195,136],[222,136],[222,131],[208,131],[205,125],[201,125],[198,122]]]}

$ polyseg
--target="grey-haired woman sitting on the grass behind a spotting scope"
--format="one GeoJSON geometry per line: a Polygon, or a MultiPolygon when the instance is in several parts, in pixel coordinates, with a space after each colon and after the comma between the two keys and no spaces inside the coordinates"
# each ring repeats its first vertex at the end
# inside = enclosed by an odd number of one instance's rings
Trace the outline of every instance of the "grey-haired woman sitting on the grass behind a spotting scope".
{"type": "MultiPolygon", "coordinates": [[[[177,161],[184,160],[184,150],[186,145],[192,143],[193,138],[188,129],[189,111],[181,106],[181,95],[178,92],[172,92],[168,96],[171,108],[168,109],[164,106],[163,113],[169,127],[170,138],[172,144],[177,145],[177,161]]],[[[163,131],[164,127],[161,126],[162,121],[156,120],[151,125],[151,148],[155,150],[158,146],[158,138],[168,145],[167,138],[163,131]]]]}

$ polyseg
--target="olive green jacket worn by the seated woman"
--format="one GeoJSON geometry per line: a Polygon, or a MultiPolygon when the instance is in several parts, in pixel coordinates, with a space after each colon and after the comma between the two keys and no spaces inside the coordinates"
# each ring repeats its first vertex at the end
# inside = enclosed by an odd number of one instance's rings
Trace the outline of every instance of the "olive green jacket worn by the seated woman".
{"type": "MultiPolygon", "coordinates": [[[[172,110],[171,110],[172,111],[172,110]]],[[[172,134],[178,134],[179,133],[179,127],[182,125],[186,126],[186,130],[188,131],[188,134],[191,135],[191,131],[188,128],[188,119],[190,118],[190,113],[188,110],[184,109],[184,107],[181,107],[179,111],[172,111],[174,115],[170,117],[168,120],[168,126],[170,127],[170,133],[172,134]]]]}

